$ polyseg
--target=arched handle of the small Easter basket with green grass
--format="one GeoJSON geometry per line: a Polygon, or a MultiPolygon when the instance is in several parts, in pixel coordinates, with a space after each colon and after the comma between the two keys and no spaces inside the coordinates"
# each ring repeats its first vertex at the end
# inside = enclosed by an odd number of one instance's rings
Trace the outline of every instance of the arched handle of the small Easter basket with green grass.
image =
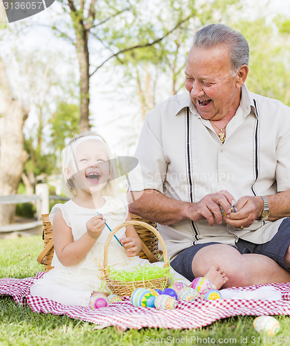
{"type": "MultiPolygon", "coordinates": [[[[105,250],[104,250],[104,263],[103,263],[103,267],[104,267],[103,270],[104,270],[105,276],[109,275],[107,266],[108,266],[109,244],[111,242],[111,239],[118,232],[118,230],[120,230],[123,227],[129,226],[129,225],[142,226],[144,228],[147,228],[147,230],[151,230],[151,232],[154,233],[154,235],[156,235],[156,237],[158,238],[158,241],[161,244],[161,248],[163,250],[164,267],[169,267],[168,257],[167,257],[167,250],[166,250],[166,247],[165,247],[165,242],[164,242],[163,238],[161,237],[160,233],[158,233],[158,230],[156,230],[156,228],[154,228],[153,226],[147,224],[146,222],[132,220],[132,221],[125,221],[125,222],[123,222],[123,224],[120,224],[119,226],[114,228],[114,230],[112,230],[111,233],[107,237],[107,241],[106,241],[106,244],[105,244],[105,250]]],[[[143,251],[144,251],[144,249],[143,249],[143,251]]]]}

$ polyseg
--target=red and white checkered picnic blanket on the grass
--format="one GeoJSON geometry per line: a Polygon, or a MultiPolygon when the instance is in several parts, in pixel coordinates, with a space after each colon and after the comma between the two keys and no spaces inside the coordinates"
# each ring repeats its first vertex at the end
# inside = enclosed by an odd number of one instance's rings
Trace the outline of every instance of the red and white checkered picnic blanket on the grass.
{"type": "Polygon", "coordinates": [[[71,318],[92,322],[98,328],[118,326],[123,330],[143,327],[192,329],[210,325],[212,322],[230,316],[290,315],[290,282],[285,284],[255,285],[243,287],[253,291],[262,286],[272,286],[282,293],[282,300],[196,300],[178,301],[174,310],[160,311],[149,307],[133,307],[130,298],[123,298],[109,307],[91,310],[89,307],[62,305],[46,298],[30,295],[30,286],[35,278],[41,278],[43,272],[35,277],[0,279],[0,295],[11,295],[15,302],[37,313],[67,315],[71,318]]]}

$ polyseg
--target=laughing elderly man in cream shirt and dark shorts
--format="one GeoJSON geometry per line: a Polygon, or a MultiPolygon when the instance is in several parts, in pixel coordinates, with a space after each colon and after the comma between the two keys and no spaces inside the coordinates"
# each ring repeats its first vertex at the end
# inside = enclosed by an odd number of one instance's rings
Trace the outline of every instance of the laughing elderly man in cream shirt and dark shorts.
{"type": "Polygon", "coordinates": [[[248,91],[247,75],[244,36],[201,28],[188,93],[147,114],[128,194],[176,271],[193,280],[216,264],[224,287],[290,281],[290,109],[248,91]]]}

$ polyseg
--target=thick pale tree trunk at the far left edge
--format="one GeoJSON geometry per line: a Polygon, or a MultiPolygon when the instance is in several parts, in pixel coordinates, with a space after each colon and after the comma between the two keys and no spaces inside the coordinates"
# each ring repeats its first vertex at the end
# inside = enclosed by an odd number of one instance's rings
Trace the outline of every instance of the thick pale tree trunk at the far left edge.
{"type": "MultiPolygon", "coordinates": [[[[28,158],[22,128],[28,116],[21,102],[12,96],[6,69],[0,60],[0,195],[16,194],[28,158]]],[[[15,206],[0,205],[0,226],[11,224],[15,206]]]]}

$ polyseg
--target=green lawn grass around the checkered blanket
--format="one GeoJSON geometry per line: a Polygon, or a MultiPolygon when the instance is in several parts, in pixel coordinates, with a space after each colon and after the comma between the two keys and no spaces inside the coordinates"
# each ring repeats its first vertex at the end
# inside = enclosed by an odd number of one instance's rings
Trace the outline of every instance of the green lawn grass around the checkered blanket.
{"type": "MultiPolygon", "coordinates": [[[[36,261],[42,244],[40,236],[0,239],[0,277],[32,277],[44,270],[36,261]]],[[[257,334],[254,318],[226,318],[191,330],[96,329],[96,325],[67,316],[34,313],[30,307],[21,307],[12,298],[0,296],[0,345],[290,345],[289,316],[277,317],[281,329],[275,338],[257,334]]]]}

